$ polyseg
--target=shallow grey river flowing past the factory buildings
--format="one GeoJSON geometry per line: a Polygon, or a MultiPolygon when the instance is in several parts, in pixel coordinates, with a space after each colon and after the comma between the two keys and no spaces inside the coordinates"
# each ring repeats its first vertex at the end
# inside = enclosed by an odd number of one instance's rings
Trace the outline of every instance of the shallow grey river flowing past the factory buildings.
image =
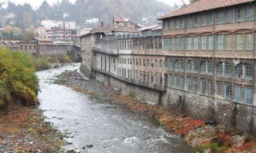
{"type": "Polygon", "coordinates": [[[151,118],[51,83],[55,75],[75,69],[79,69],[79,64],[37,72],[41,90],[39,109],[45,110],[46,121],[71,136],[66,140],[72,144],[65,149],[108,153],[195,152],[182,138],[165,132],[151,118]],[[93,147],[82,149],[87,144],[93,147]]]}

